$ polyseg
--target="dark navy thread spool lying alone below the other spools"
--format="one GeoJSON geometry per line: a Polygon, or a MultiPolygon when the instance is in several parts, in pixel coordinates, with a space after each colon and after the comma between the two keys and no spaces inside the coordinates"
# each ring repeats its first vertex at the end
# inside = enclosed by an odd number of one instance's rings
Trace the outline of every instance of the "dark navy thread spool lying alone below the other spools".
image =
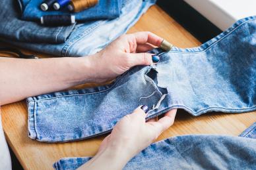
{"type": "Polygon", "coordinates": [[[69,26],[75,23],[75,15],[45,15],[40,21],[46,26],[69,26]]]}

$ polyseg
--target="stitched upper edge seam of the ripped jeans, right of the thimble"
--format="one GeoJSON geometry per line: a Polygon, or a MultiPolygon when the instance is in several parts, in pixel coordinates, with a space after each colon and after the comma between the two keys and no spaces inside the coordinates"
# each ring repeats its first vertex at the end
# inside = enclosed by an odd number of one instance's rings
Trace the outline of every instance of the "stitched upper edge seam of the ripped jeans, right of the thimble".
{"type": "MultiPolygon", "coordinates": [[[[232,30],[226,30],[226,32],[223,32],[222,36],[221,37],[215,37],[215,41],[213,42],[206,42],[206,43],[203,43],[201,46],[199,47],[195,47],[197,49],[199,49],[198,51],[189,51],[189,52],[186,52],[186,51],[182,51],[182,49],[179,49],[178,47],[176,47],[177,51],[169,51],[169,52],[166,52],[166,53],[162,53],[162,54],[167,54],[167,53],[185,53],[185,54],[197,54],[197,53],[203,53],[205,51],[208,51],[208,49],[210,49],[210,47],[212,47],[213,45],[215,45],[216,43],[218,43],[218,41],[220,40],[223,40],[225,39],[228,35],[230,35],[230,33],[234,32],[235,30],[237,30],[238,28],[240,28],[240,26],[243,26],[243,24],[246,24],[247,22],[250,22],[251,20],[256,20],[256,18],[251,18],[249,20],[245,20],[244,22],[241,22],[238,26],[235,26],[232,30]],[[205,45],[208,45],[208,47],[205,49],[205,45]],[[200,50],[200,48],[202,50],[200,50]]],[[[218,35],[217,35],[218,36],[218,35]]],[[[210,41],[210,40],[209,40],[210,41]]],[[[194,48],[191,48],[190,50],[195,50],[194,48]]]]}

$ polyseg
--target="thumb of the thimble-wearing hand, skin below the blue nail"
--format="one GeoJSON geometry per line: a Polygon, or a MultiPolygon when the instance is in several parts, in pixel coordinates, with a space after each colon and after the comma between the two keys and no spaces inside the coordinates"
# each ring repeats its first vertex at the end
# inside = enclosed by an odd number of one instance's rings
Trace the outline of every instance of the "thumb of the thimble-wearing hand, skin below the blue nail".
{"type": "Polygon", "coordinates": [[[152,64],[152,54],[150,53],[127,53],[127,55],[129,57],[130,67],[152,64]]]}

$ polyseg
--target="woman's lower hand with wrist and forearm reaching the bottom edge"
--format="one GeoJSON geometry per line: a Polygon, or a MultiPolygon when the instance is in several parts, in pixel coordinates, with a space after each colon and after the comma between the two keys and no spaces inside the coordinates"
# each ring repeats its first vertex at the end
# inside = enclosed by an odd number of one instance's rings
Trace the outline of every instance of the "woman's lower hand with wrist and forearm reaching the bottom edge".
{"type": "Polygon", "coordinates": [[[146,122],[143,110],[137,108],[132,114],[123,117],[115,125],[112,133],[103,140],[96,156],[80,168],[122,169],[129,159],[141,152],[174,123],[177,111],[170,110],[158,121],[151,119],[146,122]]]}

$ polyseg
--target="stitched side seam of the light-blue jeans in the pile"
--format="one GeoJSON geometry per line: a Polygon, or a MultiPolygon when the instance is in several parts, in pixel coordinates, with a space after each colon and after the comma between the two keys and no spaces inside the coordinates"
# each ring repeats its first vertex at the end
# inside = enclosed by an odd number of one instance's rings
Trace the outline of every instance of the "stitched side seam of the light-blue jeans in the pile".
{"type": "MultiPolygon", "coordinates": [[[[105,20],[104,20],[105,21],[105,20]]],[[[88,33],[90,33],[90,31],[92,29],[96,29],[98,28],[98,26],[100,26],[100,24],[103,21],[100,20],[98,22],[95,22],[92,24],[92,26],[90,26],[89,28],[87,28],[84,32],[79,33],[79,35],[77,35],[72,41],[69,41],[62,49],[61,51],[61,56],[67,56],[67,51],[69,50],[70,47],[72,47],[75,43],[77,43],[77,41],[79,41],[79,39],[81,39],[82,37],[84,37],[85,35],[88,35],[88,33]]]]}

